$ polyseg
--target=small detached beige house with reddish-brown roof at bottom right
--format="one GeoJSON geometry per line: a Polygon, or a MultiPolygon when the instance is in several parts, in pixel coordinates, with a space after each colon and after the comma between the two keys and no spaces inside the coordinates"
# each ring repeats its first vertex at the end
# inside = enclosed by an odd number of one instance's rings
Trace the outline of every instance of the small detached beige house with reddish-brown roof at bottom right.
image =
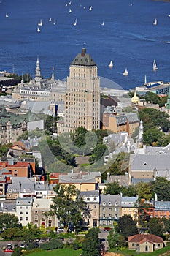
{"type": "Polygon", "coordinates": [[[138,252],[153,252],[163,248],[163,238],[152,234],[128,236],[128,249],[138,252]]]}

